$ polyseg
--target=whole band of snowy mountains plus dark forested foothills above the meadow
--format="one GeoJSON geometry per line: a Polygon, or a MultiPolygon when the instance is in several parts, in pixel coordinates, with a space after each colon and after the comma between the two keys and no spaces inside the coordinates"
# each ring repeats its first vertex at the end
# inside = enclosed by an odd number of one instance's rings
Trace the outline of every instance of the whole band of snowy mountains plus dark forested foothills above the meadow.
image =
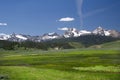
{"type": "Polygon", "coordinates": [[[105,30],[98,27],[93,31],[77,30],[76,28],[62,28],[65,33],[46,33],[41,36],[31,36],[24,34],[0,34],[0,48],[37,48],[43,50],[49,49],[74,49],[74,48],[109,48],[120,47],[120,32],[116,30],[105,30]],[[4,41],[5,40],[5,41],[4,41]],[[111,42],[111,43],[108,43],[111,42]]]}

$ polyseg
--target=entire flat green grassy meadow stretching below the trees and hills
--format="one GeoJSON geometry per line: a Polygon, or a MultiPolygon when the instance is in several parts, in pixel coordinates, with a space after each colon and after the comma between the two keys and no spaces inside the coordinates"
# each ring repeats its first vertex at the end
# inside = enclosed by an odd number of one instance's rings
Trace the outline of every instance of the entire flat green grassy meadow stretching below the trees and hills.
{"type": "Polygon", "coordinates": [[[1,50],[0,80],[120,80],[120,49],[1,50]]]}

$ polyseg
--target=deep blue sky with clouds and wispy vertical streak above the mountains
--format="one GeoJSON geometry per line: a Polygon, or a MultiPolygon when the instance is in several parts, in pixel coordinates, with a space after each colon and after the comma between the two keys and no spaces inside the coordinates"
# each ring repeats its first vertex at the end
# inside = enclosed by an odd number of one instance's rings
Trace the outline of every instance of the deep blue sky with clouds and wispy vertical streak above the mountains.
{"type": "Polygon", "coordinates": [[[42,35],[58,28],[120,31],[120,0],[0,0],[0,33],[42,35]]]}

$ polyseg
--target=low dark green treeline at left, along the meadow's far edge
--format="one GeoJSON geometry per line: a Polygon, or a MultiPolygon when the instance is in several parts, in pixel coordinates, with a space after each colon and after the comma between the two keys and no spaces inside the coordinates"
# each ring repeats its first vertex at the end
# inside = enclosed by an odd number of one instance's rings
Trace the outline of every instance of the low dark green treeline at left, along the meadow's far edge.
{"type": "Polygon", "coordinates": [[[41,50],[48,50],[48,49],[70,49],[73,48],[68,43],[51,43],[51,42],[33,42],[33,41],[24,41],[24,42],[11,42],[11,41],[4,41],[0,40],[0,48],[5,50],[17,50],[17,49],[41,49],[41,50]]]}

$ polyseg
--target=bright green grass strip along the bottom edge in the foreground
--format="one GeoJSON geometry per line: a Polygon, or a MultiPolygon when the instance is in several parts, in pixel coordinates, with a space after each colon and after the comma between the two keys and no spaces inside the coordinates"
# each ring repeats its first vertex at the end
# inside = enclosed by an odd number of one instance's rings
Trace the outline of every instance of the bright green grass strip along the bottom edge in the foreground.
{"type": "Polygon", "coordinates": [[[0,70],[10,80],[119,80],[119,74],[112,73],[66,72],[23,66],[3,66],[0,70]]]}

